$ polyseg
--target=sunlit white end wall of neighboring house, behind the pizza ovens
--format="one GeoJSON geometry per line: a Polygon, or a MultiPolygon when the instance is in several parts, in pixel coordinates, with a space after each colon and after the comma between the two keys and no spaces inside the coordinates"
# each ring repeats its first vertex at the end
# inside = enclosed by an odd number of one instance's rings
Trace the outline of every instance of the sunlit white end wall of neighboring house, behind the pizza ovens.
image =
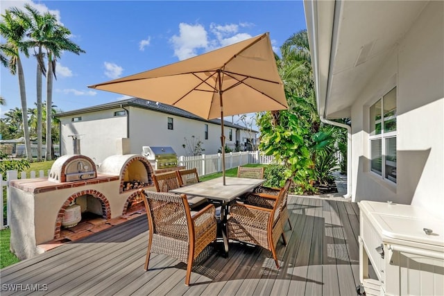
{"type": "Polygon", "coordinates": [[[122,109],[89,112],[81,115],[60,118],[61,125],[61,154],[74,153],[70,134],[80,134],[80,153],[90,157],[96,164],[103,159],[116,154],[116,141],[126,138],[126,116],[114,116],[115,111],[122,109]],[[81,116],[81,121],[71,121],[73,117],[81,116]]]}

